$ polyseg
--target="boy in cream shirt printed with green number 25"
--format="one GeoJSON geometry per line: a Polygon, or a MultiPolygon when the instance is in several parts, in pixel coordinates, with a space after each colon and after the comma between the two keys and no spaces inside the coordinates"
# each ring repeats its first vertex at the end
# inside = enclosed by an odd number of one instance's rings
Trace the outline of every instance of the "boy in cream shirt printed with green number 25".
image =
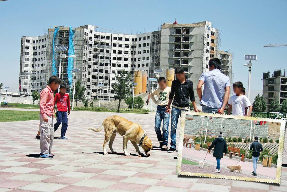
{"type": "Polygon", "coordinates": [[[154,129],[156,130],[156,136],[160,143],[160,148],[167,149],[168,143],[168,125],[169,125],[169,116],[170,114],[166,111],[168,105],[168,97],[171,87],[166,86],[166,80],[164,77],[158,78],[159,88],[150,93],[150,98],[157,104],[156,108],[156,121],[154,129]],[[154,95],[157,96],[157,100],[154,98],[154,95]],[[160,131],[160,125],[162,121],[162,133],[160,131]]]}

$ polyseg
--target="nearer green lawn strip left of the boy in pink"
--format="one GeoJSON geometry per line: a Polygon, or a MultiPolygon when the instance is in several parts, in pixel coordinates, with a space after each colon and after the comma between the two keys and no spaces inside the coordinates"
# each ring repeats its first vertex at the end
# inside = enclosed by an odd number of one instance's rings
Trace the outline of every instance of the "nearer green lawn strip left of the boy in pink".
{"type": "Polygon", "coordinates": [[[38,111],[0,110],[0,122],[28,121],[39,119],[38,111]]]}

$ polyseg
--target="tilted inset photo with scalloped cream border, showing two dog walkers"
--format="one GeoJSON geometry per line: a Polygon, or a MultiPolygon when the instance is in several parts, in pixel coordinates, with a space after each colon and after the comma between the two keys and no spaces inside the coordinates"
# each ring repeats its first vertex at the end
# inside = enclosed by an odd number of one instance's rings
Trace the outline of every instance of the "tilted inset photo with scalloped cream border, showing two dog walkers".
{"type": "Polygon", "coordinates": [[[285,123],[280,119],[183,112],[176,173],[280,183],[285,123]]]}

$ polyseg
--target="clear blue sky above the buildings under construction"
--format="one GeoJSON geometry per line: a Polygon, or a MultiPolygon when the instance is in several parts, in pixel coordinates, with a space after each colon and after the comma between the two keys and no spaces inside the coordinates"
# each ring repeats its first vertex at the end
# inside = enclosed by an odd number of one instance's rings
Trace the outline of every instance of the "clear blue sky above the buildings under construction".
{"type": "MultiPolygon", "coordinates": [[[[234,81],[247,89],[248,69],[244,54],[256,54],[251,72],[251,96],[262,92],[262,72],[287,69],[287,47],[264,47],[287,43],[287,1],[36,1],[0,2],[0,82],[18,92],[22,36],[38,36],[54,25],[147,32],[164,22],[211,21],[222,30],[221,49],[234,53],[234,81]],[[59,8],[58,8],[59,7],[59,8]]],[[[253,99],[251,99],[253,101],[253,99]]]]}

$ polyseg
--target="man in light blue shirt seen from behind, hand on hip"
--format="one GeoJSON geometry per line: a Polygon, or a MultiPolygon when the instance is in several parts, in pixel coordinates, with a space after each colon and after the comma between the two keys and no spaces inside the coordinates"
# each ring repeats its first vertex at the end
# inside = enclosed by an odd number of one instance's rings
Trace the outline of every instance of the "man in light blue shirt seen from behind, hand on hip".
{"type": "Polygon", "coordinates": [[[221,62],[218,58],[210,59],[208,69],[208,72],[201,74],[196,89],[202,112],[223,114],[229,99],[230,79],[220,71],[221,62]]]}

